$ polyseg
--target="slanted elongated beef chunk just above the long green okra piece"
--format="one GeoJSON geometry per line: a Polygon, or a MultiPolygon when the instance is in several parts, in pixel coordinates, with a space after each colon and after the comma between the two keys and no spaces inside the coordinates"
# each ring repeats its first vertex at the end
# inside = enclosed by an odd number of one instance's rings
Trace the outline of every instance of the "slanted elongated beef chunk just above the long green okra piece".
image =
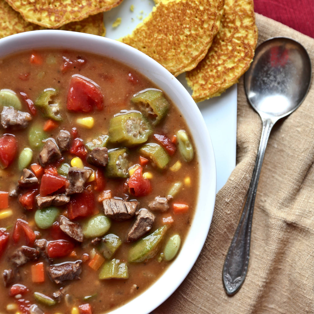
{"type": "Polygon", "coordinates": [[[136,219],[127,234],[127,242],[136,241],[147,233],[155,222],[155,215],[146,208],[137,212],[136,219]]]}

